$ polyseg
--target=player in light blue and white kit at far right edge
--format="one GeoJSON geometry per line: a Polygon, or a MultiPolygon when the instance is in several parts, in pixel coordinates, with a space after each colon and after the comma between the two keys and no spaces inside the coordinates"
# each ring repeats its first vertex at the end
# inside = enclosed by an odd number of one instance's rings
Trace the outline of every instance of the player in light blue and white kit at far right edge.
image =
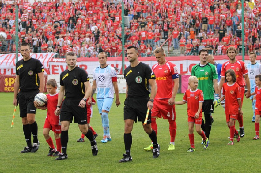
{"type": "MultiPolygon", "coordinates": [[[[256,62],[256,54],[254,52],[249,53],[249,60],[250,63],[247,64],[247,68],[251,93],[253,93],[255,91],[255,76],[261,74],[261,64],[256,62]]],[[[255,122],[255,96],[251,96],[250,99],[252,100],[252,108],[254,112],[252,122],[255,122]]]]}

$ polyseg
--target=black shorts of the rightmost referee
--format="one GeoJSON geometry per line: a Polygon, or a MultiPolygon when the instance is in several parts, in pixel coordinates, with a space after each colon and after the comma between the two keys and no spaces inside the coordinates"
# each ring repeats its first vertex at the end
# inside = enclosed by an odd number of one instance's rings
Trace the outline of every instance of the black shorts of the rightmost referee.
{"type": "MultiPolygon", "coordinates": [[[[147,114],[147,103],[149,101],[149,97],[147,98],[131,98],[127,97],[124,101],[124,120],[131,119],[134,120],[135,123],[141,121],[144,123],[147,114]]],[[[151,123],[151,111],[149,111],[149,116],[147,120],[147,124],[151,123]]]]}

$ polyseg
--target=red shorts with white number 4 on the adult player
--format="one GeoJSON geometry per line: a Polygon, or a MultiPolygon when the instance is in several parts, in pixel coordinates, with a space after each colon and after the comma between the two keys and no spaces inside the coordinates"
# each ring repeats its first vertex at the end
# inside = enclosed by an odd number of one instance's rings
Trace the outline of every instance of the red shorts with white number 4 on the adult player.
{"type": "Polygon", "coordinates": [[[176,120],[175,105],[168,105],[168,99],[154,99],[151,117],[176,120]]]}

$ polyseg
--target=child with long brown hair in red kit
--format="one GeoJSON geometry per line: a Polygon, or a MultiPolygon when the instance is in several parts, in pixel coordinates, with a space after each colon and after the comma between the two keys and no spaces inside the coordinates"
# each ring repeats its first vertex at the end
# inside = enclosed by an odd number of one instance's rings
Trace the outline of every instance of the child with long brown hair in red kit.
{"type": "Polygon", "coordinates": [[[236,83],[236,73],[233,69],[228,69],[225,72],[226,83],[223,83],[223,96],[220,99],[225,101],[226,122],[230,129],[230,140],[228,145],[234,145],[234,134],[236,141],[240,141],[240,131],[236,131],[235,120],[243,115],[241,105],[241,91],[240,86],[236,83]]]}

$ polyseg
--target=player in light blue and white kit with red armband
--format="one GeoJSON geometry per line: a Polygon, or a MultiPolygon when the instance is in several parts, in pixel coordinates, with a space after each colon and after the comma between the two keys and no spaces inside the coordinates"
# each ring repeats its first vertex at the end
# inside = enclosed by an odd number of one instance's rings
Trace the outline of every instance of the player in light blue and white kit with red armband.
{"type": "MultiPolygon", "coordinates": [[[[107,64],[107,53],[99,53],[98,58],[100,66],[93,70],[92,96],[97,89],[97,105],[103,127],[103,139],[101,142],[106,143],[112,140],[109,130],[108,113],[110,112],[114,99],[114,91],[116,95],[116,106],[118,107],[120,105],[119,89],[117,73],[113,67],[107,64]]],[[[89,99],[89,101],[91,101],[91,99],[89,99]]]]}

